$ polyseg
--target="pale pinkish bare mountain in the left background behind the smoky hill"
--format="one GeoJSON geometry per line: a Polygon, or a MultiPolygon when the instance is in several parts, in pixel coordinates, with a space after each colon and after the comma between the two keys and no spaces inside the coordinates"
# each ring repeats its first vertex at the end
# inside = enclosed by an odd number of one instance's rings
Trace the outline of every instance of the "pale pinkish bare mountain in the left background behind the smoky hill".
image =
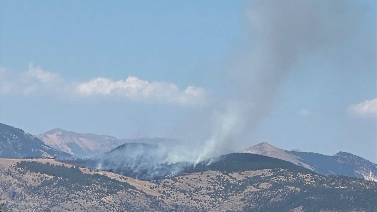
{"type": "Polygon", "coordinates": [[[118,139],[110,135],[77,133],[60,128],[49,130],[37,137],[55,149],[80,158],[101,155],[124,143],[158,143],[169,140],[165,138],[118,139]]]}

